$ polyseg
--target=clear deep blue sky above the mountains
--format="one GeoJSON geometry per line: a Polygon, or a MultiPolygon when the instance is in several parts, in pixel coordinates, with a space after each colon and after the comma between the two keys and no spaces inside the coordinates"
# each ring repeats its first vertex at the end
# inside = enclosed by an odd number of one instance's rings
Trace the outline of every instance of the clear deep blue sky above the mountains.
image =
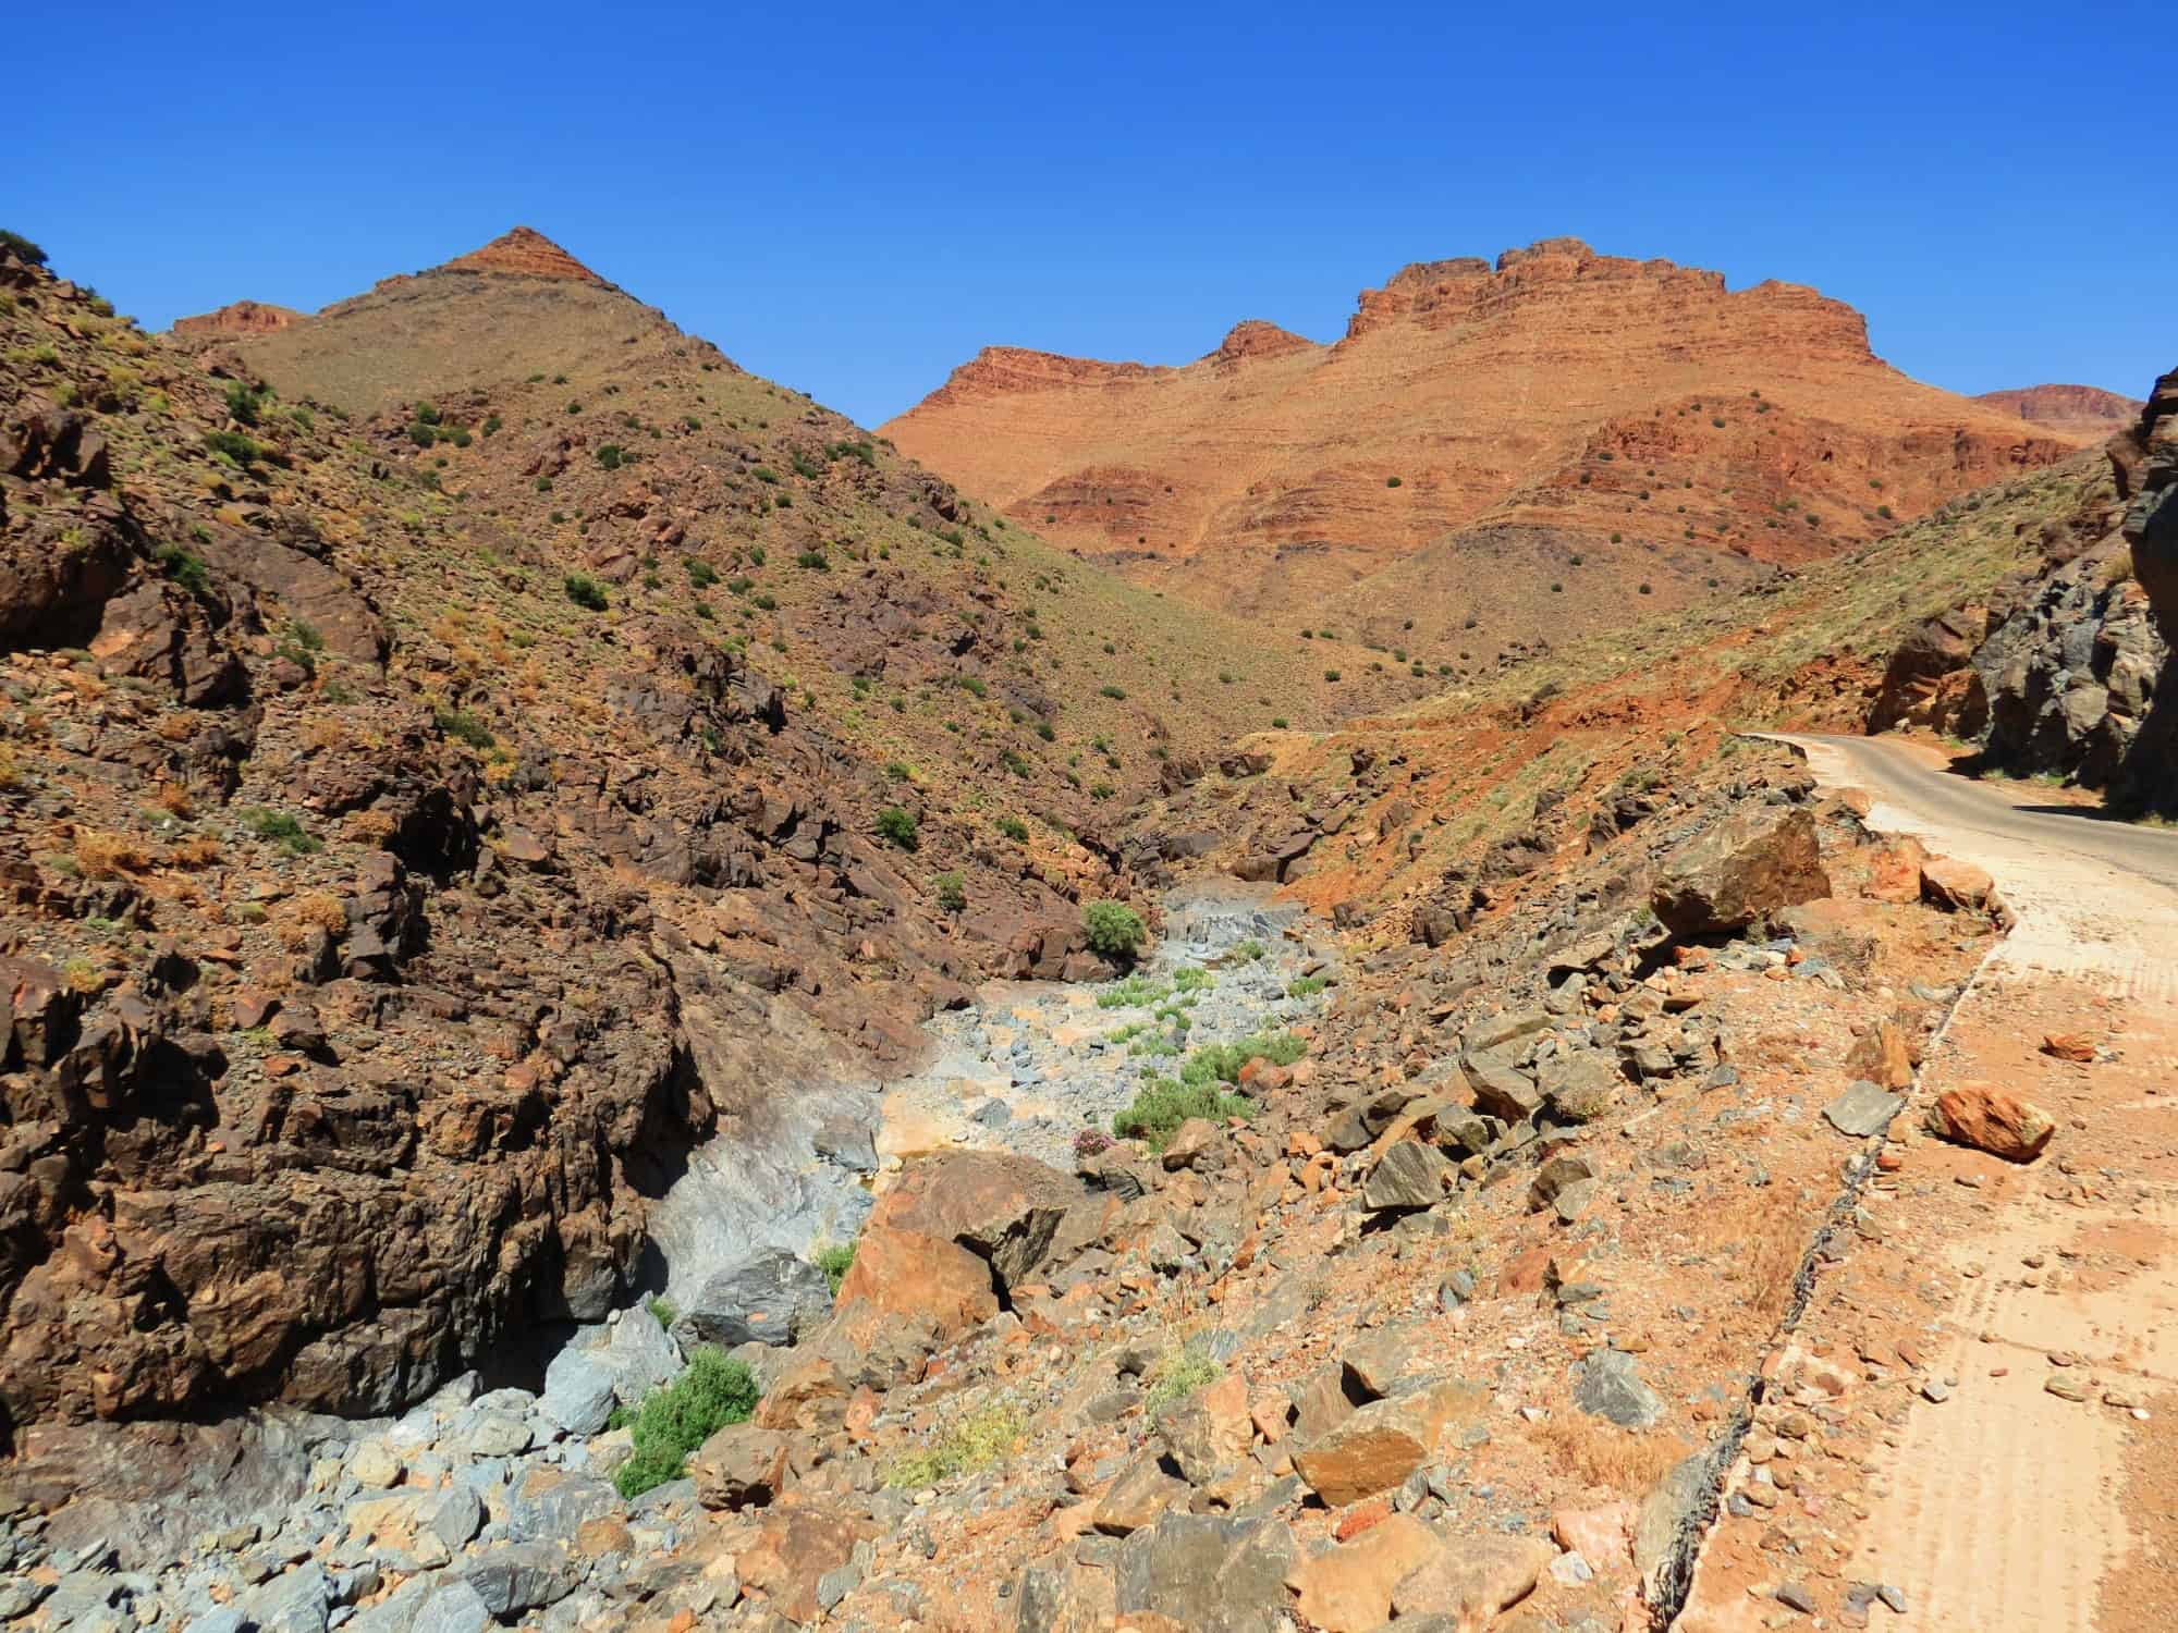
{"type": "Polygon", "coordinates": [[[527,222],[862,422],[1555,233],[1812,283],[1960,392],[2178,366],[2167,4],[1714,11],[35,4],[0,224],[166,324],[527,222]]]}

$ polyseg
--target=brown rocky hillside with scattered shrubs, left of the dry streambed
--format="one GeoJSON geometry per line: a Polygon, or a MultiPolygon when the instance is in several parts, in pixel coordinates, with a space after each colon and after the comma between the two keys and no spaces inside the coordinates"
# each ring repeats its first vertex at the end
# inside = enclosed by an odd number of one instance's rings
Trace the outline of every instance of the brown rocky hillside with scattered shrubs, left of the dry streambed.
{"type": "Polygon", "coordinates": [[[529,250],[187,351],[0,259],[9,1437],[595,1319],[701,1141],[799,1184],[804,1084],[1096,973],[1106,812],[1366,697],[529,250]],[[523,311],[564,372],[440,346],[523,311]]]}

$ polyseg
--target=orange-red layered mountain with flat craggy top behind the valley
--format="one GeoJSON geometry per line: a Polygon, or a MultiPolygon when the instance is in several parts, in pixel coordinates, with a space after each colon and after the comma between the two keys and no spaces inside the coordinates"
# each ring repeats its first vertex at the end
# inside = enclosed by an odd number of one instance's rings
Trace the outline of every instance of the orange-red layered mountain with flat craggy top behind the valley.
{"type": "Polygon", "coordinates": [[[1758,581],[2080,440],[1899,375],[1814,290],[1570,237],[1407,266],[1326,346],[993,346],[884,431],[1139,584],[1470,649],[1758,581]]]}

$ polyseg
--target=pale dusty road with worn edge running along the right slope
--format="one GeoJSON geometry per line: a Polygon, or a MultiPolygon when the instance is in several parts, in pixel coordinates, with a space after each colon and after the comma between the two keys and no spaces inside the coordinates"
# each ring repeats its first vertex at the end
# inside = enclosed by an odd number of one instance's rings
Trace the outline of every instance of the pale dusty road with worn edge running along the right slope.
{"type": "MultiPolygon", "coordinates": [[[[1832,1272],[1941,1282],[1921,1374],[1941,1398],[1873,1446],[1838,1574],[1901,1589],[1904,1613],[1869,1609],[1897,1633],[2178,1629],[2178,834],[2034,810],[1914,745],[1784,740],[1825,790],[1871,795],[1869,827],[1986,869],[2017,917],[1893,1124],[1891,1239],[1832,1272]],[[2097,1060],[2052,1058],[2052,1032],[2097,1060]],[[2034,1165],[1919,1134],[1969,1080],[2058,1117],[2034,1165]]],[[[1701,1626],[1806,1624],[1777,1611],[1758,1583],[1701,1626]]]]}

